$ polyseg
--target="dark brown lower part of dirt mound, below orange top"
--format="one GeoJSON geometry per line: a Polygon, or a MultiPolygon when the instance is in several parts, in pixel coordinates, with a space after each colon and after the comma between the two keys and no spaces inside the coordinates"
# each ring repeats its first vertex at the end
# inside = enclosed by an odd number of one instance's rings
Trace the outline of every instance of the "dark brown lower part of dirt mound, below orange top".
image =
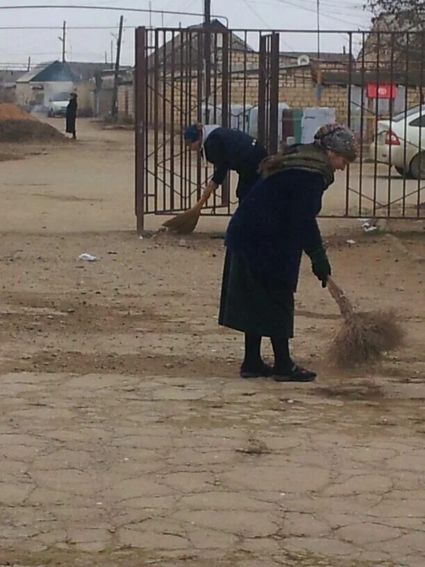
{"type": "Polygon", "coordinates": [[[38,120],[0,121],[0,142],[60,142],[60,131],[38,120]]]}

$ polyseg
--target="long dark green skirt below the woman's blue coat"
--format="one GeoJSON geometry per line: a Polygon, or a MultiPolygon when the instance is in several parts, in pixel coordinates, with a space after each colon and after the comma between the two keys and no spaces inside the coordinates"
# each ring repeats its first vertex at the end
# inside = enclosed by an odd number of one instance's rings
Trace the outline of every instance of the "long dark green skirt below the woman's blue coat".
{"type": "Polygon", "coordinates": [[[219,324],[243,333],[294,336],[294,294],[226,252],[219,324]]]}

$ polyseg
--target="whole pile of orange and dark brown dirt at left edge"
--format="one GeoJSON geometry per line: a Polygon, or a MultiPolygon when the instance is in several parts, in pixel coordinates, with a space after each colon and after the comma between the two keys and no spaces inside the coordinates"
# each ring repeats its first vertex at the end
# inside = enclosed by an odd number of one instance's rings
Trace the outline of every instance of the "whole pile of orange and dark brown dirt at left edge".
{"type": "Polygon", "coordinates": [[[0,104],[0,142],[60,142],[60,131],[14,104],[0,104]]]}

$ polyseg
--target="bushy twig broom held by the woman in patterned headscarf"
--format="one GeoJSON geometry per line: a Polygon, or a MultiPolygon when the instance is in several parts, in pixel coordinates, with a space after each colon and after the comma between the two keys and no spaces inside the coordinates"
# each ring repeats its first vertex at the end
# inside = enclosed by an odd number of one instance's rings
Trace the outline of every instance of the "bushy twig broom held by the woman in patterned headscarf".
{"type": "Polygon", "coordinates": [[[355,313],[344,291],[328,279],[328,290],[344,321],[329,349],[329,358],[344,368],[377,359],[403,343],[404,332],[391,311],[355,313]]]}

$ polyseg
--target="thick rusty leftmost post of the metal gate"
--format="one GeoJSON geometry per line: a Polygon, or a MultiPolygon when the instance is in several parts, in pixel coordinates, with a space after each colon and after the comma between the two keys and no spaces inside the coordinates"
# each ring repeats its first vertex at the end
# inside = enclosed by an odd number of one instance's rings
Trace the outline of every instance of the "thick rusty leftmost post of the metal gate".
{"type": "Polygon", "coordinates": [[[135,30],[135,215],[137,231],[144,230],[144,171],[146,168],[146,28],[135,30]]]}

